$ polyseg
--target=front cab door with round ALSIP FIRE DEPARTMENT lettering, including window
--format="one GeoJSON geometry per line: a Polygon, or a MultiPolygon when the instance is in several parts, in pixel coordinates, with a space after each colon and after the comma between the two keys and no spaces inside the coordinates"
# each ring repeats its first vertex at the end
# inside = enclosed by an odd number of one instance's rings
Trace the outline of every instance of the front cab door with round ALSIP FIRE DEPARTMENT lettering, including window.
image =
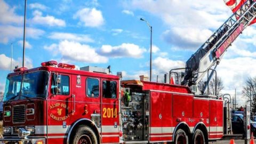
{"type": "Polygon", "coordinates": [[[63,143],[70,118],[73,116],[71,75],[52,73],[47,100],[47,140],[63,143]]]}

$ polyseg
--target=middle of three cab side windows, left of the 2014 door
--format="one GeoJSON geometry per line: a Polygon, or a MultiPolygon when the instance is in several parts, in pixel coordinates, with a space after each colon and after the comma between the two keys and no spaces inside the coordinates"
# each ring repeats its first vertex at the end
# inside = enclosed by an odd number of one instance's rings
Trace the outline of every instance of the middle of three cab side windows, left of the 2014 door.
{"type": "Polygon", "coordinates": [[[86,95],[87,97],[99,97],[99,80],[97,78],[86,79],[86,95]]]}

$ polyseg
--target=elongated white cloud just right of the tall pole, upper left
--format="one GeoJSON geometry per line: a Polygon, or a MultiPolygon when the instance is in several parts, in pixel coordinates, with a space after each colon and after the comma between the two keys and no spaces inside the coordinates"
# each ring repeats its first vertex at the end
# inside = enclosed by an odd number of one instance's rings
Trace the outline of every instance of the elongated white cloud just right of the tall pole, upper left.
{"type": "Polygon", "coordinates": [[[65,27],[66,22],[61,19],[57,19],[53,17],[52,15],[46,15],[43,17],[43,13],[41,11],[34,11],[33,12],[34,17],[31,19],[31,22],[39,24],[39,25],[48,25],[48,26],[59,26],[59,27],[65,27]]]}

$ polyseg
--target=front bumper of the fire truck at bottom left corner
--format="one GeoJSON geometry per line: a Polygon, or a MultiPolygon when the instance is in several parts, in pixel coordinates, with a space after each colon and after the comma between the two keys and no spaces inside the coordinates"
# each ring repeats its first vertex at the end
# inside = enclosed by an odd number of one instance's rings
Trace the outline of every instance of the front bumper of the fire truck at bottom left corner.
{"type": "Polygon", "coordinates": [[[45,144],[45,138],[28,138],[28,139],[19,139],[19,138],[4,138],[0,139],[0,143],[17,143],[17,144],[36,144],[38,142],[45,144]]]}

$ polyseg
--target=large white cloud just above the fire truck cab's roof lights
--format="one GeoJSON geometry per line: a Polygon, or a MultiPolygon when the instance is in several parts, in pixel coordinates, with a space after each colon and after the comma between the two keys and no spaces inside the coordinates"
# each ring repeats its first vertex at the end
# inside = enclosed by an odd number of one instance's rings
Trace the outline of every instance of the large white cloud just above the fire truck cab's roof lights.
{"type": "Polygon", "coordinates": [[[44,46],[44,49],[58,51],[67,61],[106,63],[108,58],[99,55],[93,47],[73,41],[61,41],[58,45],[44,46]]]}

